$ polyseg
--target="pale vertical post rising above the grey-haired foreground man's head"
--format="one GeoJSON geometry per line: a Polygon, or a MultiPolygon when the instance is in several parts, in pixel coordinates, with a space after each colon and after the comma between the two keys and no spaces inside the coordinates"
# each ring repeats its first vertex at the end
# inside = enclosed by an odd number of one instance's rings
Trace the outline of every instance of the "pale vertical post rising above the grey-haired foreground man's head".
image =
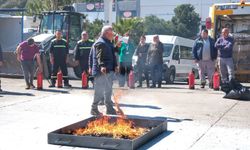
{"type": "Polygon", "coordinates": [[[112,25],[112,4],[113,4],[113,0],[104,0],[105,25],[112,25]]]}

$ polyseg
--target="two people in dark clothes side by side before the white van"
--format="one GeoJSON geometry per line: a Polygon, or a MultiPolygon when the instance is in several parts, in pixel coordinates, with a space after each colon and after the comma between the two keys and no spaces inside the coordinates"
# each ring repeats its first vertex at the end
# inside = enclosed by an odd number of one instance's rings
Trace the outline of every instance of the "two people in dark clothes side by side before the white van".
{"type": "Polygon", "coordinates": [[[146,37],[141,36],[140,43],[135,50],[135,55],[138,56],[138,87],[142,87],[143,79],[146,79],[146,85],[150,88],[161,88],[162,84],[162,65],[163,65],[163,44],[160,42],[159,36],[153,37],[153,42],[146,43],[146,37]],[[152,85],[149,85],[149,73],[152,79],[152,85]],[[144,78],[143,78],[144,75],[144,78]]]}

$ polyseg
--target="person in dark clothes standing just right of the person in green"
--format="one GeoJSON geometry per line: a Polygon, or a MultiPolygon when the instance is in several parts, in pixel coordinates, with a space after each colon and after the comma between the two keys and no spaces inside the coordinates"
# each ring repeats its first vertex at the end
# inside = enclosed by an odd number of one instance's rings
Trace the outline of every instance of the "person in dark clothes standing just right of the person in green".
{"type": "Polygon", "coordinates": [[[139,85],[137,87],[142,87],[142,75],[143,74],[147,81],[147,87],[149,87],[148,70],[147,70],[147,65],[146,65],[149,45],[145,42],[146,42],[146,37],[143,35],[141,36],[140,43],[135,50],[135,55],[138,57],[137,68],[138,68],[139,85]]]}

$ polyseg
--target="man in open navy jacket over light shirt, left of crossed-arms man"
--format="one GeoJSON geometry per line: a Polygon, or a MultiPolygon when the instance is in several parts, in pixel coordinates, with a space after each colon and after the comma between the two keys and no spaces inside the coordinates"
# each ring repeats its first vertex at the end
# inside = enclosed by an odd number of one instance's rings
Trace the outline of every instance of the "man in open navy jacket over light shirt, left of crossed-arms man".
{"type": "Polygon", "coordinates": [[[208,30],[204,29],[193,46],[193,57],[195,63],[199,66],[201,88],[204,88],[206,85],[205,73],[207,73],[208,76],[209,87],[212,88],[212,77],[215,70],[215,60],[217,58],[217,49],[214,47],[214,43],[214,39],[208,36],[208,30]]]}

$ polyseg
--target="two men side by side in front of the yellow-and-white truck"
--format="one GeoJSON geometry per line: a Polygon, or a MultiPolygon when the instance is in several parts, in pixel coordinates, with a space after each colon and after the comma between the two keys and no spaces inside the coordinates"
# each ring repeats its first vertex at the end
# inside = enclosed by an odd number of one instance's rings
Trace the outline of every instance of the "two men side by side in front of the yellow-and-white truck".
{"type": "Polygon", "coordinates": [[[206,85],[206,75],[209,87],[212,88],[213,73],[217,70],[216,61],[218,61],[222,83],[227,83],[235,78],[233,46],[234,39],[229,35],[228,28],[222,30],[221,37],[216,42],[208,36],[208,30],[202,30],[193,46],[193,56],[199,67],[201,88],[206,85]]]}

